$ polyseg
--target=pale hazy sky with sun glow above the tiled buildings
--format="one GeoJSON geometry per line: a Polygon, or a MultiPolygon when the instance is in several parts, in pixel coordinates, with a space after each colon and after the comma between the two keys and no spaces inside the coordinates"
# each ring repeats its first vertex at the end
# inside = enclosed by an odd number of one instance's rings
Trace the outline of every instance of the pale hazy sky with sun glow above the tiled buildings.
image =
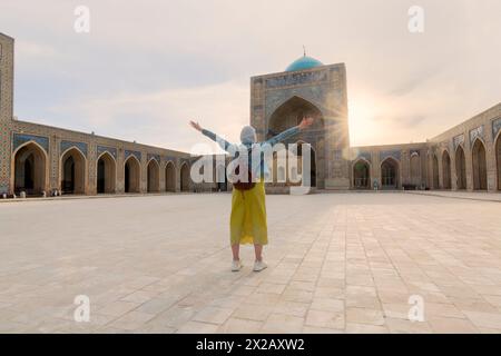
{"type": "Polygon", "coordinates": [[[20,120],[193,151],[195,119],[237,141],[249,78],[304,44],[346,65],[351,146],[367,146],[423,141],[500,102],[500,13],[499,0],[0,0],[0,32],[16,39],[20,120]]]}

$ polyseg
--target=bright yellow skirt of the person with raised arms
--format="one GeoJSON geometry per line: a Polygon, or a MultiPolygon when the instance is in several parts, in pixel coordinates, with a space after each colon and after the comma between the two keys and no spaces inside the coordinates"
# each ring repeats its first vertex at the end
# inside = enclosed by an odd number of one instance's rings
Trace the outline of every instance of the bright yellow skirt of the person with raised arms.
{"type": "Polygon", "coordinates": [[[268,244],[264,181],[249,190],[233,189],[230,241],[236,244],[268,244]]]}

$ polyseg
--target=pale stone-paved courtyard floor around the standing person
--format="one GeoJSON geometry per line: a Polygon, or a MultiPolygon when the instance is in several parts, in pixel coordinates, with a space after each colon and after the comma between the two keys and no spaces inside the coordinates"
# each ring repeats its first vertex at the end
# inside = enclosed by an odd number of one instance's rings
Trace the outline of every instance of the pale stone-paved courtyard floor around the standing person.
{"type": "Polygon", "coordinates": [[[501,202],[267,202],[258,274],[250,247],[229,271],[228,194],[0,204],[0,332],[501,333],[501,202]],[[424,322],[409,319],[411,296],[424,322]]]}

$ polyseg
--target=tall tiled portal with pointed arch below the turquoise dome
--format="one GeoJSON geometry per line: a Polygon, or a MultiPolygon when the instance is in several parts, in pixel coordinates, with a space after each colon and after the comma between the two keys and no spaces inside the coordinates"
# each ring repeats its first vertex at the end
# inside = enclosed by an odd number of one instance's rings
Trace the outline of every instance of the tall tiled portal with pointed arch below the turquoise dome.
{"type": "Polygon", "coordinates": [[[316,158],[316,186],[350,189],[346,70],[343,63],[250,79],[250,125],[256,128],[258,139],[297,125],[302,113],[312,115],[321,122],[314,131],[302,132],[293,140],[312,146],[316,158]],[[284,118],[276,118],[276,115],[292,116],[287,118],[291,122],[277,122],[284,118]]]}

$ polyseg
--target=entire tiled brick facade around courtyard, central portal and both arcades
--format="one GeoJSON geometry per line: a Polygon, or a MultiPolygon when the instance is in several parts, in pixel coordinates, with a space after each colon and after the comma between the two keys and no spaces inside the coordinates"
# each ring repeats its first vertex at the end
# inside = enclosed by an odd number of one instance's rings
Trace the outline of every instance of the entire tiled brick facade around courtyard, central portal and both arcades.
{"type": "MultiPolygon", "coordinates": [[[[159,165],[156,191],[226,190],[229,187],[217,182],[194,184],[186,169],[189,171],[196,158],[186,152],[14,119],[13,42],[12,38],[0,33],[0,194],[14,194],[16,154],[27,146],[45,157],[42,190],[46,194],[61,190],[61,158],[71,150],[84,157],[84,194],[87,195],[98,192],[98,159],[106,154],[112,158],[116,194],[126,191],[125,166],[130,157],[140,166],[139,192],[148,191],[151,160],[159,165]],[[169,164],[175,168],[175,181],[170,184],[166,178],[169,164]]],[[[495,191],[501,188],[501,103],[426,142],[350,147],[346,88],[343,63],[253,77],[250,125],[256,128],[258,139],[266,139],[296,125],[304,115],[314,116],[316,126],[286,144],[299,141],[312,146],[317,189],[372,189],[376,186],[495,191]],[[464,157],[460,167],[461,152],[464,157]]],[[[228,158],[226,165],[227,161],[228,158]]],[[[213,170],[216,176],[216,162],[213,170]]],[[[268,188],[288,191],[287,185],[271,184],[268,188]]]]}

